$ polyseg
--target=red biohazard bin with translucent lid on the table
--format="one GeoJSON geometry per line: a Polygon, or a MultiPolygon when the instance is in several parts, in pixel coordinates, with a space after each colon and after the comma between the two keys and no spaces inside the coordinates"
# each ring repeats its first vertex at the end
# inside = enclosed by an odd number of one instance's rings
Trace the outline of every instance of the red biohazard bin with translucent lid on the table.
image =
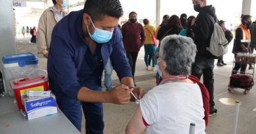
{"type": "Polygon", "coordinates": [[[25,110],[23,105],[23,97],[27,94],[28,90],[31,91],[47,91],[48,78],[45,76],[30,76],[25,78],[18,78],[11,80],[11,87],[14,91],[16,102],[19,110],[25,110]]]}

